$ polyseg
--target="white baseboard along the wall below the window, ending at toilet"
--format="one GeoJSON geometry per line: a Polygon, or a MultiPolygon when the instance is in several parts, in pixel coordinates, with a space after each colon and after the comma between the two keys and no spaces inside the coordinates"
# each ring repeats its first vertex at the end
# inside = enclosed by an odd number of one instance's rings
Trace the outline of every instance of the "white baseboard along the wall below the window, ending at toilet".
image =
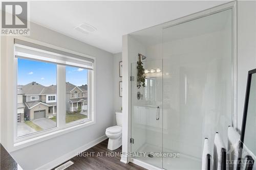
{"type": "Polygon", "coordinates": [[[103,135],[103,136],[99,137],[98,139],[95,139],[95,140],[91,141],[90,143],[84,144],[82,147],[73,150],[72,152],[69,152],[69,153],[67,153],[67,154],[65,154],[65,155],[63,155],[63,156],[45,164],[45,165],[42,165],[42,166],[38,167],[36,170],[52,169],[55,166],[58,166],[59,164],[73,158],[74,156],[77,155],[77,153],[79,153],[79,152],[81,153],[83,151],[86,151],[86,150],[94,147],[96,144],[102,142],[103,140],[105,140],[107,138],[108,137],[106,137],[106,135],[103,135]]]}

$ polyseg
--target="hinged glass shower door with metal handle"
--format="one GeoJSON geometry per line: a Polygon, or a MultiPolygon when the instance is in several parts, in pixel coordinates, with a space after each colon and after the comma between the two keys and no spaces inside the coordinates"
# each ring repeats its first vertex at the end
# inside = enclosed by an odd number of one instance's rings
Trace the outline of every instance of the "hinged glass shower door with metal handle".
{"type": "Polygon", "coordinates": [[[131,136],[134,158],[162,168],[162,59],[144,61],[145,87],[137,87],[137,63],[132,64],[131,136]]]}

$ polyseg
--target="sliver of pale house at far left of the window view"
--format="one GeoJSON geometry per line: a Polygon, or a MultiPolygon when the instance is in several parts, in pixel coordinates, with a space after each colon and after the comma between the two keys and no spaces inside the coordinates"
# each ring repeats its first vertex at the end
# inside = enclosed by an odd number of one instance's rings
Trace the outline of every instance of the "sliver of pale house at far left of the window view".
{"type": "Polygon", "coordinates": [[[23,103],[23,90],[22,86],[17,86],[17,121],[18,123],[24,122],[24,109],[25,105],[23,103]]]}

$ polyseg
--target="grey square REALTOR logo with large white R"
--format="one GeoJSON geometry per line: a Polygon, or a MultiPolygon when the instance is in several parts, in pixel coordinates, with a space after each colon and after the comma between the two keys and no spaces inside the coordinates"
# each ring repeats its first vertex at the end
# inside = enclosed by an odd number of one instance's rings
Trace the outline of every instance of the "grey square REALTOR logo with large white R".
{"type": "Polygon", "coordinates": [[[2,2],[2,35],[29,35],[28,2],[2,2]]]}

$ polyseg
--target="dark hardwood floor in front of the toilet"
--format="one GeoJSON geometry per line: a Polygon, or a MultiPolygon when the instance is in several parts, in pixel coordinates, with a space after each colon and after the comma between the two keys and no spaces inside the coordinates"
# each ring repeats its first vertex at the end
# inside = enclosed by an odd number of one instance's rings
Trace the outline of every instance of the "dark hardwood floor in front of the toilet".
{"type": "MultiPolygon", "coordinates": [[[[73,165],[66,168],[71,169],[83,169],[83,170],[127,170],[127,169],[138,169],[144,170],[145,168],[140,167],[134,163],[122,163],[120,162],[119,153],[122,152],[122,148],[118,148],[115,151],[108,150],[108,139],[102,141],[101,143],[95,145],[82,154],[71,158],[70,160],[74,162],[73,165]],[[90,155],[91,154],[91,155],[90,155]]],[[[67,161],[66,161],[67,162],[67,161]]],[[[65,163],[66,163],[65,162],[65,163]]],[[[58,167],[58,166],[57,166],[58,167]]],[[[55,167],[56,168],[56,167],[55,167]]],[[[53,168],[54,169],[54,168],[53,168]]]]}

